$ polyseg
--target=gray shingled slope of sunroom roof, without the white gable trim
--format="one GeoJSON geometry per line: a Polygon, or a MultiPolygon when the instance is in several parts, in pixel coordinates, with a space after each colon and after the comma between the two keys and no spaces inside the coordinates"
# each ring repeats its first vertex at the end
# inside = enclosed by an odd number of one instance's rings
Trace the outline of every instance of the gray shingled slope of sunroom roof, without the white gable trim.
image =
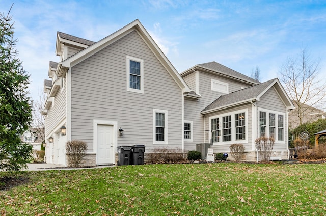
{"type": "Polygon", "coordinates": [[[202,112],[207,110],[212,110],[212,109],[218,109],[219,107],[227,106],[229,104],[234,104],[240,101],[246,101],[255,98],[260,93],[262,93],[271,83],[273,83],[275,79],[271,79],[267,82],[250,86],[245,89],[241,89],[239,91],[235,91],[227,95],[222,95],[214,102],[209,104],[204,110],[202,110],[202,112]]]}

